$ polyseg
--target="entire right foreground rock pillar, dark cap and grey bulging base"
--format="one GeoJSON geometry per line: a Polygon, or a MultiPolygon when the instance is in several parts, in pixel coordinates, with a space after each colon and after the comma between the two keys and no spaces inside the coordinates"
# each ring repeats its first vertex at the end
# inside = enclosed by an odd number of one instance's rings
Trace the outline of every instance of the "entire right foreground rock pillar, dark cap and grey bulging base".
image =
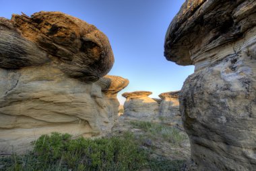
{"type": "Polygon", "coordinates": [[[179,94],[191,142],[188,170],[256,168],[256,1],[187,0],[164,55],[195,65],[179,94]]]}

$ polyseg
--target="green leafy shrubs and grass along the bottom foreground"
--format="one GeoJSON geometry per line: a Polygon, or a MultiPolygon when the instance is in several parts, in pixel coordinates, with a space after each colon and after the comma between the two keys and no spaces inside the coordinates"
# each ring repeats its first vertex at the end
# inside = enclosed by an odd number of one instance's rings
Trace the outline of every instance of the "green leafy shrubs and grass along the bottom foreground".
{"type": "Polygon", "coordinates": [[[99,139],[51,133],[34,141],[29,154],[1,158],[0,170],[180,170],[183,162],[150,158],[132,133],[99,139]]]}

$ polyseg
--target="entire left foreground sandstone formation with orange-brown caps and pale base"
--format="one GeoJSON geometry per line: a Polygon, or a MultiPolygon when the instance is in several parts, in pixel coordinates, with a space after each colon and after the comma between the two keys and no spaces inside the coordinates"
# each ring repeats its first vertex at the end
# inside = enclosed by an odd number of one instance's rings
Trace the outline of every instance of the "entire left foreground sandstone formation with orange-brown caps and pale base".
{"type": "Polygon", "coordinates": [[[12,146],[24,152],[53,131],[85,137],[110,131],[116,95],[128,84],[104,76],[113,62],[108,38],[70,15],[0,18],[0,153],[12,146]]]}

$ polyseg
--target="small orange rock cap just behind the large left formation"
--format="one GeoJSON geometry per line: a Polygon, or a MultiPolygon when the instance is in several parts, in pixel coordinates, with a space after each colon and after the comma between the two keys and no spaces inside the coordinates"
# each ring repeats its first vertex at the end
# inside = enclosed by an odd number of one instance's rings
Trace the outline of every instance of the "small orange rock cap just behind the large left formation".
{"type": "Polygon", "coordinates": [[[127,87],[129,80],[121,76],[106,75],[100,78],[97,84],[100,85],[105,94],[115,95],[127,87]]]}

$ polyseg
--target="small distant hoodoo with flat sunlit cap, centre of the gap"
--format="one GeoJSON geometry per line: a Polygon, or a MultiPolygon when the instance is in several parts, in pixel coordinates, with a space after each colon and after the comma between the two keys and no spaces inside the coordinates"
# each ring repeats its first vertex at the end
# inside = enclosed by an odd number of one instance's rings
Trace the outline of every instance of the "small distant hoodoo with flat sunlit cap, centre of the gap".
{"type": "Polygon", "coordinates": [[[134,119],[152,119],[158,114],[158,103],[148,97],[150,91],[134,91],[131,93],[123,93],[126,98],[124,116],[133,117],[134,119]]]}

